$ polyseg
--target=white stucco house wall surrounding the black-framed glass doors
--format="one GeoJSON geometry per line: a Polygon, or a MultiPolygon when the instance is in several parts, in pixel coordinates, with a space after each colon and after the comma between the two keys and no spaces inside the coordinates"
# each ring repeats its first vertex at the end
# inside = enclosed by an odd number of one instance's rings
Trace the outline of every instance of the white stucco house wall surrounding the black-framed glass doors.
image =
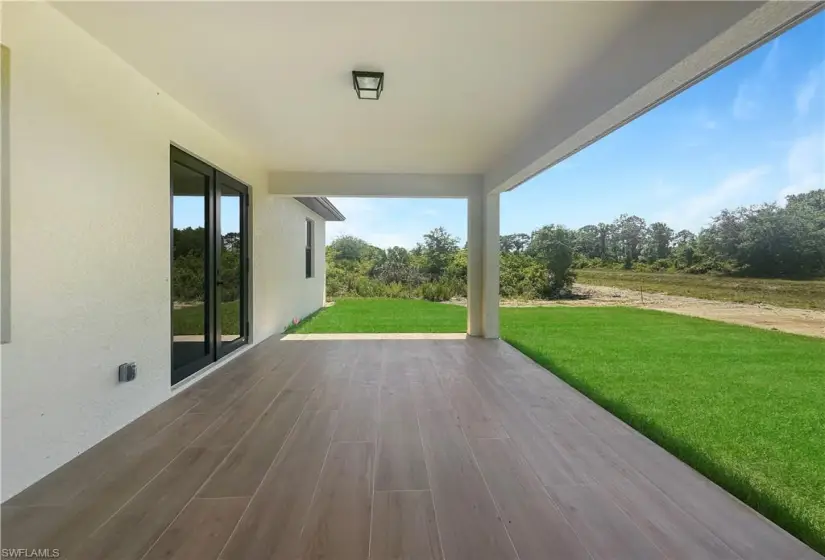
{"type": "Polygon", "coordinates": [[[6,3],[2,15],[12,59],[5,500],[172,394],[170,143],[252,187],[254,341],[322,305],[324,227],[267,194],[254,158],[49,5],[6,3]],[[126,361],[138,379],[118,384],[126,361]]]}

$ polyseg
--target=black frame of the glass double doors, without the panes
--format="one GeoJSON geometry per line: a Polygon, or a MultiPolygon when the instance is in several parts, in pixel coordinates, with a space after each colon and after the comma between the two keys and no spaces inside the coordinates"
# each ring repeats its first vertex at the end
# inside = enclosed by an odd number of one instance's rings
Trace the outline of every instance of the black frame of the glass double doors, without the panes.
{"type": "Polygon", "coordinates": [[[171,384],[175,385],[187,379],[192,374],[213,364],[223,356],[238,349],[249,342],[249,295],[250,295],[250,257],[249,257],[249,187],[237,179],[222,173],[211,165],[198,158],[184,152],[180,148],[171,146],[169,163],[169,190],[170,190],[170,275],[169,275],[169,295],[170,295],[170,315],[169,324],[171,328],[171,384]],[[206,203],[204,204],[204,229],[206,232],[205,251],[205,274],[204,274],[204,334],[208,352],[202,358],[175,368],[175,340],[174,324],[172,315],[174,313],[174,179],[173,168],[175,165],[186,167],[192,171],[204,175],[206,182],[206,203]],[[241,241],[240,255],[240,325],[239,337],[231,342],[221,341],[221,280],[220,264],[223,236],[220,231],[220,202],[222,186],[226,186],[239,193],[240,223],[239,234],[241,241]]]}

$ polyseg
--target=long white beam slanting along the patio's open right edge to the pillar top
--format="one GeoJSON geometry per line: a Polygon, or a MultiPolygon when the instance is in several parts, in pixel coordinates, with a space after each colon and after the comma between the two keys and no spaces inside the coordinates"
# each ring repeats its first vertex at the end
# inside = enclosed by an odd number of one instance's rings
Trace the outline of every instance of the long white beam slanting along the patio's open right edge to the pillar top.
{"type": "MultiPolygon", "coordinates": [[[[670,2],[661,2],[660,5],[668,4],[670,2]]],[[[702,6],[702,9],[707,10],[706,17],[709,20],[715,17],[715,10],[730,9],[731,5],[730,2],[689,4],[702,6]]],[[[574,122],[573,119],[566,118],[568,115],[565,114],[546,114],[516,149],[484,175],[484,191],[500,193],[518,187],[825,7],[825,2],[822,1],[771,0],[764,3],[744,1],[735,4],[740,4],[744,8],[753,4],[758,7],[612,108],[599,107],[594,103],[594,119],[587,126],[577,128],[582,121],[574,122]],[[599,111],[604,109],[609,110],[599,116],[599,111]]],[[[689,23],[686,22],[685,25],[689,23]]],[[[632,66],[633,62],[636,61],[628,61],[628,66],[632,66]]],[[[653,64],[649,67],[651,71],[656,70],[653,64]]],[[[576,98],[581,99],[582,96],[593,93],[596,97],[601,94],[571,90],[569,95],[572,102],[576,98]]]]}

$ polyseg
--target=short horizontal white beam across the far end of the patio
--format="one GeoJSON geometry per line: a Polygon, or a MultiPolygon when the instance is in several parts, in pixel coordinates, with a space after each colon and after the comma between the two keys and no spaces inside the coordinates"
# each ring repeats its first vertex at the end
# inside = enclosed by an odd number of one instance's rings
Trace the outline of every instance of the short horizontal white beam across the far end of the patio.
{"type": "Polygon", "coordinates": [[[481,175],[300,171],[269,174],[269,193],[279,196],[466,198],[478,192],[481,185],[481,175]]]}

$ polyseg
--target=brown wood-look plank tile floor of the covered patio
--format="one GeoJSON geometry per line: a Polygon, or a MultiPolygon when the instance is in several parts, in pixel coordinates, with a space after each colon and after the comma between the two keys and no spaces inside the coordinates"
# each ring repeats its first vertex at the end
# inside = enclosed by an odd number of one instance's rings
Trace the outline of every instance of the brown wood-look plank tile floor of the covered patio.
{"type": "Polygon", "coordinates": [[[819,556],[504,342],[288,335],[3,505],[61,558],[819,556]]]}

